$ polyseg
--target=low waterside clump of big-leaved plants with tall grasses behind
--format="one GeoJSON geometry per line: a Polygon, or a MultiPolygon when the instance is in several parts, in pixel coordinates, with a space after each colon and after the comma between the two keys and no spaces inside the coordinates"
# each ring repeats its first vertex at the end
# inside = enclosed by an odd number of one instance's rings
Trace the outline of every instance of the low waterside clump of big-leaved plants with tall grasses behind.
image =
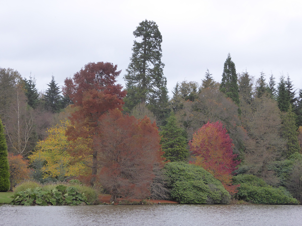
{"type": "Polygon", "coordinates": [[[50,183],[42,186],[34,181],[18,185],[13,196],[13,205],[79,205],[96,204],[98,191],[78,183],[50,183]]]}

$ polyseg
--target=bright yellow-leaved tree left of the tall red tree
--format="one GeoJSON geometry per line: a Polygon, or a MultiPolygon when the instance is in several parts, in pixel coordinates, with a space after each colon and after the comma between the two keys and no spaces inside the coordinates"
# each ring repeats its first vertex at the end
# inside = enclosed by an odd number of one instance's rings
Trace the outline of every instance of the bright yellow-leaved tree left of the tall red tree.
{"type": "MultiPolygon", "coordinates": [[[[69,146],[75,145],[75,141],[68,141],[65,136],[65,130],[70,125],[70,121],[65,120],[51,127],[47,131],[49,134],[48,137],[45,138],[45,140],[40,140],[37,143],[34,153],[29,156],[31,163],[34,161],[44,162],[41,168],[43,178],[74,177],[89,170],[86,166],[86,163],[89,162],[89,158],[85,159],[85,161],[76,162],[68,153],[69,146]]],[[[79,146],[83,145],[80,140],[78,142],[79,146]]]]}

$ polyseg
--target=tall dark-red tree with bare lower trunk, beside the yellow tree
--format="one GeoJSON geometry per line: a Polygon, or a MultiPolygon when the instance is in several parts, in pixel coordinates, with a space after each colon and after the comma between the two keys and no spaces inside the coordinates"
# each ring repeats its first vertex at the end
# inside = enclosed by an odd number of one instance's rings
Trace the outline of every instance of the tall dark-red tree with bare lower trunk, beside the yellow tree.
{"type": "Polygon", "coordinates": [[[69,96],[75,112],[70,121],[72,126],[66,130],[69,140],[86,139],[89,149],[74,148],[71,155],[87,157],[92,155],[92,180],[94,183],[98,169],[98,143],[95,141],[99,134],[98,119],[110,109],[121,110],[126,91],[115,84],[116,77],[121,71],[116,71],[117,65],[112,63],[89,63],[73,78],[66,78],[63,87],[64,96],[69,96]]]}

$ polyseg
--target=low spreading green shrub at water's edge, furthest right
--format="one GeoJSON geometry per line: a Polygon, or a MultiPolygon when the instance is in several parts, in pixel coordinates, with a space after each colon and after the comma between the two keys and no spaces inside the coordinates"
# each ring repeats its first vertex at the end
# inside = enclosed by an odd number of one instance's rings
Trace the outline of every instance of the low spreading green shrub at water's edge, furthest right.
{"type": "Polygon", "coordinates": [[[233,177],[233,183],[240,184],[235,198],[255,204],[298,204],[297,199],[284,187],[271,187],[261,178],[251,174],[233,177]]]}

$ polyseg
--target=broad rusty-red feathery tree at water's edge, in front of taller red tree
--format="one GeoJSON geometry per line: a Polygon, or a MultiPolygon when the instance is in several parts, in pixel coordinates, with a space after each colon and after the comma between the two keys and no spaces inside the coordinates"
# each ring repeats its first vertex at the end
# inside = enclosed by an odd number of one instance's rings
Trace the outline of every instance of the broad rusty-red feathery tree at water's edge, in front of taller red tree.
{"type": "Polygon", "coordinates": [[[163,167],[156,124],[149,118],[123,116],[118,109],[102,115],[99,124],[98,178],[111,193],[111,201],[117,196],[145,198],[155,177],[154,166],[163,167]]]}

